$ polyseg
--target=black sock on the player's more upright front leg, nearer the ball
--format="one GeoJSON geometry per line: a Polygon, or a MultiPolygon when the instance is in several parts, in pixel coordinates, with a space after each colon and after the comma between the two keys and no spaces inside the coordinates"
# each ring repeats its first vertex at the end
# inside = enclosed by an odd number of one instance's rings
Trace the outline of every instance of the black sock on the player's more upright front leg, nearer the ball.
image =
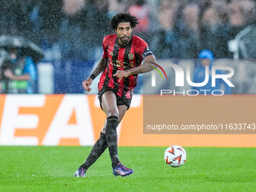
{"type": "Polygon", "coordinates": [[[108,151],[111,157],[112,167],[116,167],[120,163],[117,156],[117,126],[118,117],[115,115],[107,118],[107,125],[105,127],[105,138],[108,143],[108,151]]]}

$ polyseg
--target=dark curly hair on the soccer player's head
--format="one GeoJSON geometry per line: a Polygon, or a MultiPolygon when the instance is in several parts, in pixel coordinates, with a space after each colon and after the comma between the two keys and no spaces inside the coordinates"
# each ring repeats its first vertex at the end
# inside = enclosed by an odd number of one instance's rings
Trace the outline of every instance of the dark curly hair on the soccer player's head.
{"type": "Polygon", "coordinates": [[[110,22],[110,26],[112,29],[117,29],[117,26],[119,23],[130,23],[132,28],[135,28],[138,24],[139,21],[136,17],[131,15],[129,12],[127,13],[120,13],[116,14],[110,22]]]}

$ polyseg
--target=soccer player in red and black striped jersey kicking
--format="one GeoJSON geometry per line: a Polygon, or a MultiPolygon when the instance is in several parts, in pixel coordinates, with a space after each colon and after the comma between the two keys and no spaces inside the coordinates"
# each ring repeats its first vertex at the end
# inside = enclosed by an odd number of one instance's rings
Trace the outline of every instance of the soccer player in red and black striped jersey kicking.
{"type": "Polygon", "coordinates": [[[105,36],[102,58],[90,78],[82,83],[84,89],[90,92],[90,84],[102,72],[98,84],[98,96],[106,120],[98,141],[87,160],[75,172],[75,177],[84,177],[87,169],[96,162],[106,148],[111,157],[115,176],[133,173],[133,169],[126,168],[118,159],[117,126],[130,108],[138,74],[150,72],[153,69],[151,66],[156,62],[148,44],[142,38],[132,35],[133,28],[138,23],[138,19],[129,13],[116,14],[111,19],[111,28],[116,34],[105,36]],[[142,59],[144,59],[143,64],[142,59]]]}

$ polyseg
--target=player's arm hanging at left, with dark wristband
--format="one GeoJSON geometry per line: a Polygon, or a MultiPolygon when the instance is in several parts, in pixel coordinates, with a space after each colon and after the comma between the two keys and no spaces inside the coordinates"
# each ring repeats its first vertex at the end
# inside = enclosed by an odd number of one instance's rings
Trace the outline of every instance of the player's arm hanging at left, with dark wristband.
{"type": "Polygon", "coordinates": [[[108,64],[108,59],[106,58],[101,58],[96,66],[96,69],[94,69],[92,75],[90,75],[89,78],[87,78],[87,80],[83,81],[83,87],[84,90],[86,90],[87,92],[90,92],[92,90],[92,88],[90,87],[90,85],[93,83],[93,79],[96,78],[101,72],[103,72],[105,70],[105,68],[107,67],[108,64]]]}

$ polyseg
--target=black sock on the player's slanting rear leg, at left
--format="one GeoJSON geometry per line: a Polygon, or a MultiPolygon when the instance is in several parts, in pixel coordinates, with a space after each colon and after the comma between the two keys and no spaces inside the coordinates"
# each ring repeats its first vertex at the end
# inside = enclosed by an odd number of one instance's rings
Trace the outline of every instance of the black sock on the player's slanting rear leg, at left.
{"type": "Polygon", "coordinates": [[[98,141],[93,145],[93,149],[92,151],[90,151],[87,160],[85,160],[84,164],[81,165],[80,167],[83,167],[84,169],[87,170],[103,154],[106,148],[108,148],[108,144],[105,139],[105,134],[100,133],[100,137],[98,141]]]}

